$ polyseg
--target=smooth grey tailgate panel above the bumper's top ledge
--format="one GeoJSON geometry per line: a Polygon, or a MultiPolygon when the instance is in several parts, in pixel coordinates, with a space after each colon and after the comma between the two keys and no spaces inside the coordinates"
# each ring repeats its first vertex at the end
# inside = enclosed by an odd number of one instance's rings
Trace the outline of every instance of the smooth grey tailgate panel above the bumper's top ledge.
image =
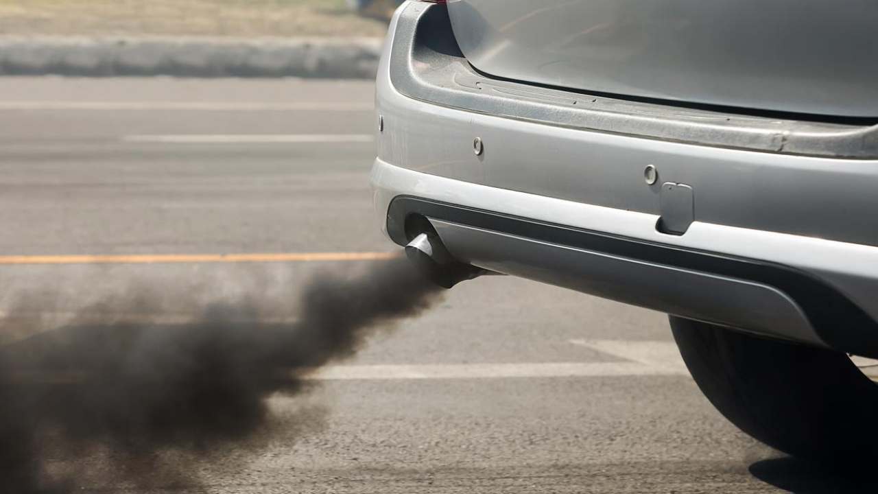
{"type": "Polygon", "coordinates": [[[492,76],[587,92],[878,117],[874,0],[451,0],[492,76]]]}

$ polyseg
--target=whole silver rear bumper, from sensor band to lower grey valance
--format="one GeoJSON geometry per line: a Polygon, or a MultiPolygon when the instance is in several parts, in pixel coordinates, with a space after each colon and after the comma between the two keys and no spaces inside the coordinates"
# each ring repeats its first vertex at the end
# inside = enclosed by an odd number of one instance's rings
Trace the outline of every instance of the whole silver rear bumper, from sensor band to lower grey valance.
{"type": "Polygon", "coordinates": [[[394,59],[411,44],[397,39],[411,34],[399,28],[408,9],[425,6],[404,5],[391,25],[371,178],[395,242],[407,242],[407,218],[426,216],[453,255],[486,269],[878,355],[878,161],[583,130],[516,118],[531,105],[519,98],[488,114],[431,101],[443,86],[423,78],[426,91],[404,94],[400,63],[414,76],[447,69],[394,59]],[[647,164],[656,185],[644,183],[647,164]],[[694,191],[681,236],[656,228],[664,182],[694,191]]]}

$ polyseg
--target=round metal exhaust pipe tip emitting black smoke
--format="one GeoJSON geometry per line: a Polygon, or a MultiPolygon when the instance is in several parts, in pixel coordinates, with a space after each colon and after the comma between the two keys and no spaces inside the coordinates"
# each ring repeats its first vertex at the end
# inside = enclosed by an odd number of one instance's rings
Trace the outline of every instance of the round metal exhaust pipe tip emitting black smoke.
{"type": "Polygon", "coordinates": [[[468,265],[451,257],[442,240],[435,233],[421,233],[406,245],[406,257],[428,280],[443,288],[461,281],[472,280],[487,270],[468,265]]]}

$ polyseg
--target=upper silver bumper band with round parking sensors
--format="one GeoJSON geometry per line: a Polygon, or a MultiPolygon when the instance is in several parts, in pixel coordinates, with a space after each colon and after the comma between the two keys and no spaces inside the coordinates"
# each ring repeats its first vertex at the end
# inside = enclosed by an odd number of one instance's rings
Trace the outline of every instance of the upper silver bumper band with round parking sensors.
{"type": "MultiPolygon", "coordinates": [[[[385,117],[385,131],[377,137],[383,161],[475,184],[656,215],[660,184],[683,183],[697,194],[696,222],[878,244],[878,214],[871,214],[878,210],[878,160],[640,139],[407,98],[392,84],[392,47],[399,18],[432,8],[428,5],[401,7],[385,44],[376,95],[385,117]],[[472,152],[476,137],[484,143],[481,156],[472,152]],[[654,185],[644,183],[648,164],[659,170],[654,185]]],[[[505,106],[507,113],[515,112],[514,104],[505,106]]]]}

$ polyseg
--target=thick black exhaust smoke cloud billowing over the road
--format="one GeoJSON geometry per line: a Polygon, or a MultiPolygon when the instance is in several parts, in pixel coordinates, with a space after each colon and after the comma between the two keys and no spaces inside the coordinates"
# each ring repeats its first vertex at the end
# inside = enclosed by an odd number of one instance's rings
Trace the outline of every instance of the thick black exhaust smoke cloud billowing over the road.
{"type": "MultiPolygon", "coordinates": [[[[308,389],[313,369],[349,357],[373,328],[427,309],[437,291],[395,258],[358,275],[321,273],[292,323],[272,323],[252,304],[216,303],[191,323],[90,316],[4,345],[2,491],[192,489],[198,465],[224,447],[261,444],[269,396],[308,389]]],[[[123,309],[142,312],[153,296],[133,294],[123,309]]],[[[315,417],[305,410],[299,419],[315,417]]]]}

